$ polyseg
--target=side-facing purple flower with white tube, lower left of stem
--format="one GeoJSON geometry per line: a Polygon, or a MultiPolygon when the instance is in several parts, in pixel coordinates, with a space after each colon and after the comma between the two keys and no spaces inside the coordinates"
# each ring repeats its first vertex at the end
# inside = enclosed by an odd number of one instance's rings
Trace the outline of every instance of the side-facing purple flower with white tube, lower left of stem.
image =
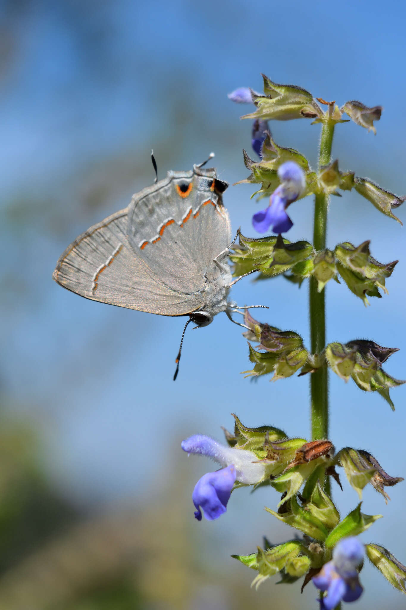
{"type": "Polygon", "coordinates": [[[194,434],[183,440],[181,447],[188,454],[208,456],[223,466],[222,470],[208,472],[197,481],[192,500],[197,509],[195,517],[198,521],[201,520],[199,506],[209,520],[218,519],[226,512],[235,481],[253,485],[265,479],[265,466],[258,461],[253,451],[226,447],[204,434],[194,434]]]}

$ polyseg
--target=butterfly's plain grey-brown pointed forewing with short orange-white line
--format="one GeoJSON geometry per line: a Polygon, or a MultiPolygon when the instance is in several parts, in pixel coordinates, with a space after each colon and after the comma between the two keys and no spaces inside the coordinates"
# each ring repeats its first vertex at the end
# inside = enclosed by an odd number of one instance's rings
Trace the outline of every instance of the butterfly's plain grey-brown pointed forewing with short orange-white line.
{"type": "Polygon", "coordinates": [[[58,260],[58,284],[94,301],[161,315],[201,307],[198,293],[173,290],[159,279],[127,239],[128,208],[79,235],[58,260]]]}

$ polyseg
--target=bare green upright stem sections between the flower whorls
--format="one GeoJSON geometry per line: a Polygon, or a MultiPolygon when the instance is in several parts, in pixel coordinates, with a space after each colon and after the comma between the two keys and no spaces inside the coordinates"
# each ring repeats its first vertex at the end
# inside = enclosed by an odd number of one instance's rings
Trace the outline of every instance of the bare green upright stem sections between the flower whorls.
{"type": "MultiPolygon", "coordinates": [[[[334,134],[333,121],[323,123],[320,140],[319,167],[331,162],[331,146],[334,134]]],[[[319,193],[315,196],[313,246],[316,251],[326,248],[327,210],[329,195],[319,193]]],[[[310,339],[312,353],[320,354],[326,346],[326,303],[324,288],[317,292],[317,280],[310,277],[310,339]]],[[[312,417],[312,439],[328,439],[329,404],[327,367],[320,367],[310,375],[310,398],[312,417]]]]}

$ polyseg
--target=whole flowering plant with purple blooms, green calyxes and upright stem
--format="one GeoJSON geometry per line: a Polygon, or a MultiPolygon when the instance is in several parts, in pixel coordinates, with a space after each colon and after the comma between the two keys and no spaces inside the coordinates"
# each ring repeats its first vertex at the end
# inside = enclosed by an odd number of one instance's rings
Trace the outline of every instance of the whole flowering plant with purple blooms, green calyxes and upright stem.
{"type": "Polygon", "coordinates": [[[339,282],[340,277],[367,305],[368,297],[380,297],[380,291],[387,293],[385,281],[397,263],[377,262],[370,254],[369,241],[359,246],[342,242],[327,248],[329,199],[331,195],[341,196],[340,191],[354,188],[381,213],[401,223],[393,210],[406,198],[351,171],[340,171],[338,160],[332,160],[335,126],[352,120],[375,134],[374,121],[380,119],[382,107],[367,107],[358,101],[348,101],[338,107],[335,102],[313,98],[300,87],[279,85],[263,77],[264,93],[240,87],[228,97],[254,107],[253,112],[242,118],[253,120],[251,146],[259,160],[251,159],[243,151],[250,176],[240,182],[257,184],[259,188],[254,195],[259,199],[269,198],[268,206],[254,213],[253,228],[260,233],[271,228],[276,235],[258,239],[239,232],[239,243],[234,246],[231,261],[234,276],[256,271],[264,279],[284,274],[299,285],[306,279],[309,281],[311,345],[307,348],[296,332],[261,323],[245,310],[244,337],[248,339],[250,362],[254,365],[245,373],[247,376],[273,373],[273,380],[288,378],[296,371],[299,375],[308,375],[312,438],[291,438],[272,426],[248,428],[234,415],[234,432],[225,431],[226,444],[197,434],[184,440],[182,448],[188,454],[208,456],[221,467],[204,475],[195,486],[192,500],[198,520],[202,512],[208,520],[223,515],[231,493],[238,487],[271,486],[281,493],[276,511],[266,510],[301,535],[296,534],[279,545],[271,545],[265,539],[264,548],[258,548],[256,553],[233,557],[257,572],[254,578],[257,586],[276,573],[282,583],[304,577],[304,587],[312,581],[320,592],[320,609],[333,610],[341,601],[352,602],[362,595],[359,572],[365,556],[403,593],[406,593],[406,567],[384,547],[363,545],[357,538],[382,515],[364,514],[360,501],[341,519],[331,498],[331,478],[341,487],[336,470],[339,467],[343,468],[359,500],[362,500],[363,488],[370,483],[387,502],[390,498],[384,487],[403,479],[388,475],[368,451],[351,447],[335,451],[329,440],[329,369],[344,381],[352,378],[362,390],[378,392],[392,409],[390,389],[404,381],[394,379],[382,368],[397,348],[383,347],[366,339],[326,344],[327,282],[331,279],[339,282]],[[349,119],[342,118],[345,113],[349,119]],[[272,138],[268,121],[296,118],[312,118],[312,124],[321,125],[317,170],[312,170],[300,152],[279,146],[272,138]],[[287,207],[307,195],[315,197],[313,240],[312,243],[291,243],[282,237],[293,225],[287,207]],[[257,343],[256,348],[252,343],[257,343]]]}

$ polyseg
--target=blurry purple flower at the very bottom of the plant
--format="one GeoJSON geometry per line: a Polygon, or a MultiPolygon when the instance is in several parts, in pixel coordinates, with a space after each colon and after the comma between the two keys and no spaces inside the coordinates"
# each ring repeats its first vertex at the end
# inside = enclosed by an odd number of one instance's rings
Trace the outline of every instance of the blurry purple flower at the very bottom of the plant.
{"type": "Polygon", "coordinates": [[[344,538],[333,551],[332,561],[324,564],[313,584],[327,591],[320,601],[320,610],[334,610],[340,601],[355,601],[362,594],[357,566],[364,557],[364,548],[355,537],[344,538]]]}

